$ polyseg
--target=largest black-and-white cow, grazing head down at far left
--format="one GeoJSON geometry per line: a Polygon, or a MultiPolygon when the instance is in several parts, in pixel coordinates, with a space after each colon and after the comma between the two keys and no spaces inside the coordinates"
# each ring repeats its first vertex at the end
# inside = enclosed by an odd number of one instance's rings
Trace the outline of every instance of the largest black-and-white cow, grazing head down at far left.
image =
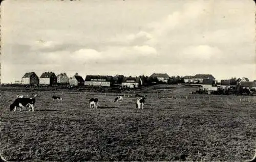
{"type": "Polygon", "coordinates": [[[19,107],[19,111],[22,111],[23,107],[29,107],[29,111],[34,111],[35,98],[16,98],[15,101],[10,105],[10,111],[15,112],[19,107]]]}

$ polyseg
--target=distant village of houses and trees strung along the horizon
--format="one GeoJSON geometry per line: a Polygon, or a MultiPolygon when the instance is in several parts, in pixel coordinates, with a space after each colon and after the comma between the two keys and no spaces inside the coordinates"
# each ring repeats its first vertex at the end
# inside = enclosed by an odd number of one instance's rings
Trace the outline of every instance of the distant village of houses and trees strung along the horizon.
{"type": "Polygon", "coordinates": [[[246,77],[232,77],[225,80],[216,80],[211,74],[196,74],[186,76],[169,76],[167,73],[153,73],[150,76],[136,77],[124,75],[87,75],[85,79],[78,73],[69,77],[67,73],[56,75],[54,72],[44,72],[38,77],[35,72],[27,72],[22,79],[15,83],[1,84],[2,87],[58,87],[65,89],[82,88],[109,88],[119,92],[122,90],[141,89],[153,85],[186,85],[198,87],[192,94],[218,95],[256,95],[256,80],[250,82],[246,77]]]}

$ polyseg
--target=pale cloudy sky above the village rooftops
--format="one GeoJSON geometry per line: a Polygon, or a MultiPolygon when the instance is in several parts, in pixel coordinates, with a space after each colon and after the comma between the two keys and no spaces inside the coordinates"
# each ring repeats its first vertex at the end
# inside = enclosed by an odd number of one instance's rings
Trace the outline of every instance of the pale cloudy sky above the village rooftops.
{"type": "Polygon", "coordinates": [[[1,83],[76,72],[256,79],[255,4],[245,0],[4,1],[1,83]]]}

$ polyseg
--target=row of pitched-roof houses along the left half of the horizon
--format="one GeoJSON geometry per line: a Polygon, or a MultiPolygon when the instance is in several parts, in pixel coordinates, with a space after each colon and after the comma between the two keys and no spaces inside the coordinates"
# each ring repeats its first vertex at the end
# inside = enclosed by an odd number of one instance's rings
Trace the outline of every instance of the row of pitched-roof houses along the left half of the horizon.
{"type": "Polygon", "coordinates": [[[57,76],[54,72],[44,72],[38,77],[35,72],[27,72],[21,83],[24,85],[70,85],[70,86],[102,86],[110,87],[118,82],[118,77],[121,78],[122,87],[138,88],[142,85],[140,77],[124,77],[123,75],[87,75],[83,79],[78,73],[73,77],[68,77],[66,73],[60,73],[57,76]]]}

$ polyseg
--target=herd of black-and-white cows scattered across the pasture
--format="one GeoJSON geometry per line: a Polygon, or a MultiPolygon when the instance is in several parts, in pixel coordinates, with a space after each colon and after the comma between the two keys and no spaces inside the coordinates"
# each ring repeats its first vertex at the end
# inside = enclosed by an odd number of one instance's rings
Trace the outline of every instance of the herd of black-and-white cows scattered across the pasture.
{"type": "MultiPolygon", "coordinates": [[[[22,108],[25,107],[29,107],[29,111],[32,110],[32,112],[35,109],[35,102],[36,102],[36,97],[38,95],[37,94],[33,94],[32,96],[28,96],[28,95],[17,95],[17,98],[14,100],[14,102],[10,105],[10,111],[15,112],[18,108],[19,111],[22,111],[22,108]]],[[[62,97],[60,96],[52,96],[52,99],[54,100],[62,100],[62,97]]],[[[142,109],[143,110],[143,105],[145,104],[145,97],[141,97],[139,99],[137,99],[136,102],[136,108],[138,109],[142,109]]],[[[122,102],[123,101],[123,97],[122,96],[117,96],[114,100],[114,102],[122,102]]],[[[99,99],[98,98],[91,98],[89,100],[90,103],[90,109],[97,109],[97,106],[99,104],[99,99]]]]}

